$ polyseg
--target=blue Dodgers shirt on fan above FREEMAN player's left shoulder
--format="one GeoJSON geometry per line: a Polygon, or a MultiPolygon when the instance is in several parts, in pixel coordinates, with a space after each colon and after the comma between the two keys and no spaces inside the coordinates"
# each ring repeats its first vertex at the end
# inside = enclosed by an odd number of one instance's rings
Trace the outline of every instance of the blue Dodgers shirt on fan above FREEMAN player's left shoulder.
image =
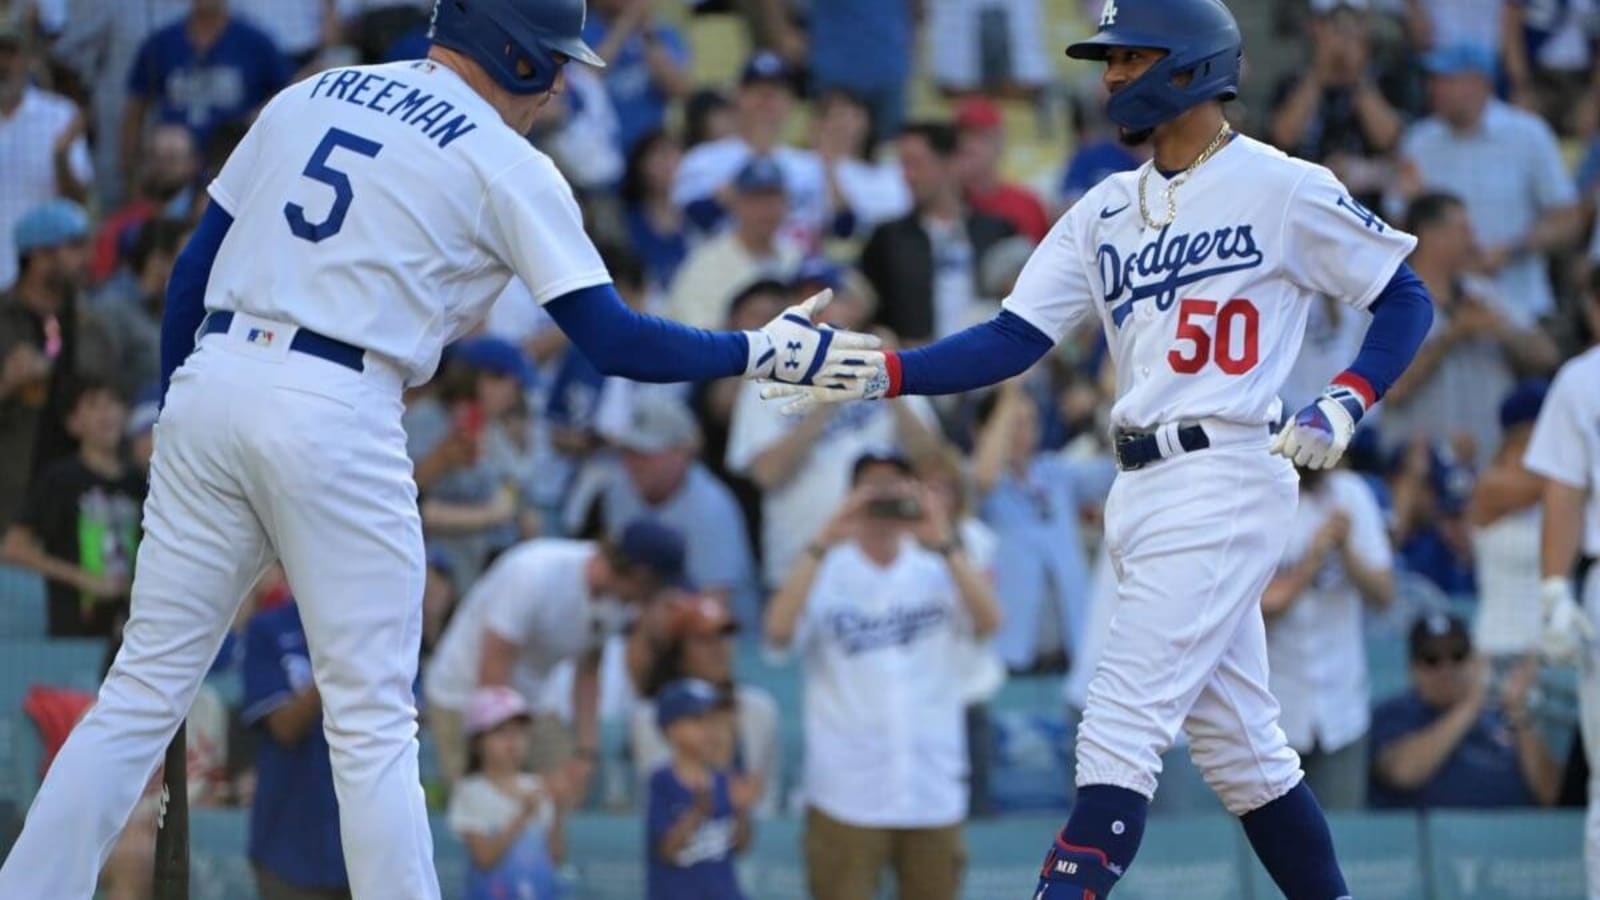
{"type": "Polygon", "coordinates": [[[290,62],[266,32],[229,19],[205,51],[187,21],[152,34],[128,69],[128,90],[150,102],[160,122],[186,125],[203,151],[211,131],[243,120],[290,83],[290,62]]]}

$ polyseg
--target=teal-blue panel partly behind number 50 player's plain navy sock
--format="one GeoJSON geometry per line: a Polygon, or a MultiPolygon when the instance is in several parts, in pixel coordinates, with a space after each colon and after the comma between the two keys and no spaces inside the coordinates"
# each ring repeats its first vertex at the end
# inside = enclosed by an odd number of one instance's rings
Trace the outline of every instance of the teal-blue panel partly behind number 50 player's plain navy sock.
{"type": "MultiPolygon", "coordinates": [[[[1410,812],[1331,814],[1333,844],[1350,892],[1362,900],[1427,897],[1422,881],[1422,823],[1410,812]]],[[[1282,900],[1267,870],[1246,849],[1254,900],[1282,900]]]]}

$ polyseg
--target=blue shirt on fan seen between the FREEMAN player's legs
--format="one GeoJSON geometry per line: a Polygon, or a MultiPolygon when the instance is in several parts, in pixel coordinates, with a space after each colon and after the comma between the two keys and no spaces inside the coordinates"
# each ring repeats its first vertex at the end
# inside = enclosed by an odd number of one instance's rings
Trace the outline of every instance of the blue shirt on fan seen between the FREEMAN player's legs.
{"type": "Polygon", "coordinates": [[[310,684],[310,653],[299,607],[258,613],[245,629],[243,719],[256,727],[256,802],[250,810],[250,858],[306,889],[344,889],[339,801],[333,793],[328,738],[318,716],[294,746],[272,740],[266,717],[310,684]]]}

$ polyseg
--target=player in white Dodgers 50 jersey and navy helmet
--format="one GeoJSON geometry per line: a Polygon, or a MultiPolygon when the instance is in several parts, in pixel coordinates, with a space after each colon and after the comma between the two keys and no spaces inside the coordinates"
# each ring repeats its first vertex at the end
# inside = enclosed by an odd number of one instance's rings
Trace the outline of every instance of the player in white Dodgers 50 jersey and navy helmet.
{"type": "Polygon", "coordinates": [[[1283,894],[1334,900],[1347,890],[1328,826],[1267,693],[1261,593],[1294,512],[1290,461],[1333,466],[1427,333],[1427,290],[1403,263],[1416,240],[1326,168],[1229,128],[1242,45],[1219,0],[1109,0],[1099,34],[1067,54],[1106,64],[1107,114],[1154,160],[1072,207],[994,320],[861,354],[864,380],[824,370],[818,386],[763,392],[806,407],[970,391],[1098,314],[1117,364],[1106,543],[1118,585],[1077,737],[1077,802],[1037,897],[1112,890],[1181,727],[1283,894]],[[1274,437],[1323,296],[1373,322],[1354,364],[1274,437]]]}

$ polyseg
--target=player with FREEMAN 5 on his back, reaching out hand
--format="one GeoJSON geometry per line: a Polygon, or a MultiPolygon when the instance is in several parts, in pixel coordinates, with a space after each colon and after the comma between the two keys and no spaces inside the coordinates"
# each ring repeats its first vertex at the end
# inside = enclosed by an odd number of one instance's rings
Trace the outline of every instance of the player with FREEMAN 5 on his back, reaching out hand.
{"type": "Polygon", "coordinates": [[[166,295],[171,388],[125,642],[0,868],[0,897],[93,895],[270,557],[301,604],[350,890],[438,897],[418,781],[424,554],[400,394],[514,275],[598,368],[640,381],[805,381],[830,352],[870,343],[811,325],[824,295],[747,333],[622,304],[566,183],[523,139],[568,61],[600,64],[582,24],[582,0],[440,2],[427,59],[286,88],[211,183],[166,295]]]}

